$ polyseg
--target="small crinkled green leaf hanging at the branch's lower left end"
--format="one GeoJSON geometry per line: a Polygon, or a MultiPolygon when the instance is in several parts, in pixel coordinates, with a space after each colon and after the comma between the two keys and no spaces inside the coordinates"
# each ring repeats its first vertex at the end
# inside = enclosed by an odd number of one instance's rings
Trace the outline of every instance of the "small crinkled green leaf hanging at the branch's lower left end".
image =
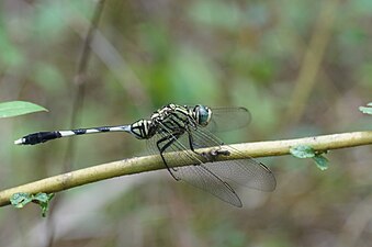
{"type": "Polygon", "coordinates": [[[36,195],[30,194],[30,193],[14,193],[10,198],[10,202],[12,205],[14,205],[16,209],[22,209],[30,202],[34,202],[38,204],[42,209],[42,216],[46,216],[46,212],[49,209],[49,202],[54,198],[54,193],[47,194],[47,193],[37,193],[36,195]]]}

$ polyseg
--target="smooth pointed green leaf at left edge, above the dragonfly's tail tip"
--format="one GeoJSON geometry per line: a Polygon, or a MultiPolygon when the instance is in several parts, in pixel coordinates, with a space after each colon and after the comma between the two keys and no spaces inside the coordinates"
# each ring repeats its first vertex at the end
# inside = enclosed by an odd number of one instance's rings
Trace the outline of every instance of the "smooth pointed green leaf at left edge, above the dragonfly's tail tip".
{"type": "Polygon", "coordinates": [[[18,116],[41,111],[47,112],[45,108],[25,101],[10,101],[0,103],[0,117],[18,116]]]}

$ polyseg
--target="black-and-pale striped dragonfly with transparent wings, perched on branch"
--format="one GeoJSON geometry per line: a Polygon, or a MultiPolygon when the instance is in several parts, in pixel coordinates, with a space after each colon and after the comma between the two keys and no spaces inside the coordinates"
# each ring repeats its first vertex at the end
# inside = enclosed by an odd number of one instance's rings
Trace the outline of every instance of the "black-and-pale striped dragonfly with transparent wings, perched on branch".
{"type": "Polygon", "coordinates": [[[262,162],[224,145],[215,134],[244,127],[250,119],[246,108],[171,103],[155,111],[149,119],[128,125],[38,132],[23,136],[14,144],[35,145],[68,136],[126,132],[138,139],[146,139],[149,151],[160,155],[165,168],[177,181],[185,181],[224,202],[241,207],[241,200],[235,191],[237,186],[273,191],[275,177],[262,162]],[[207,151],[199,151],[200,148],[207,151]],[[177,156],[172,155],[174,151],[177,156]],[[217,160],[218,156],[229,156],[232,153],[237,154],[236,159],[217,160]]]}

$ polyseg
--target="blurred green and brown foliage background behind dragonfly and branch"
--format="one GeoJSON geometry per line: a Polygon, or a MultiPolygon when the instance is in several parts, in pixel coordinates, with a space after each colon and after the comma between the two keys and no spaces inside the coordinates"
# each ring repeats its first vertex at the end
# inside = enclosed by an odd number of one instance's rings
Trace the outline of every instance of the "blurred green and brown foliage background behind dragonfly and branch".
{"type": "MultiPolygon", "coordinates": [[[[98,1],[0,3],[0,101],[49,110],[0,120],[0,187],[146,154],[127,134],[44,145],[40,131],[128,124],[174,102],[243,105],[251,124],[227,143],[369,130],[370,0],[106,0],[83,79],[79,59],[98,1]],[[81,75],[80,75],[81,76],[81,75]],[[84,93],[77,93],[77,81],[84,93]],[[75,100],[82,104],[76,109],[75,100]]],[[[0,209],[1,246],[371,246],[371,147],[330,151],[330,167],[260,159],[272,193],[243,188],[235,209],[166,170],[58,193],[53,213],[0,209]]]]}

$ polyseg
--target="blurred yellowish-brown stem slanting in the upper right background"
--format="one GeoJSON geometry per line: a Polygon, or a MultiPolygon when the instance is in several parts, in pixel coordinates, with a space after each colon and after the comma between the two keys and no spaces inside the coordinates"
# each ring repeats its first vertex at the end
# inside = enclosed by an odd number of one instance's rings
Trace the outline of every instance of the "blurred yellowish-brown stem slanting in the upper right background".
{"type": "Polygon", "coordinates": [[[306,102],[315,87],[316,77],[335,23],[338,0],[324,1],[323,4],[289,104],[286,115],[293,123],[301,119],[306,102]]]}

